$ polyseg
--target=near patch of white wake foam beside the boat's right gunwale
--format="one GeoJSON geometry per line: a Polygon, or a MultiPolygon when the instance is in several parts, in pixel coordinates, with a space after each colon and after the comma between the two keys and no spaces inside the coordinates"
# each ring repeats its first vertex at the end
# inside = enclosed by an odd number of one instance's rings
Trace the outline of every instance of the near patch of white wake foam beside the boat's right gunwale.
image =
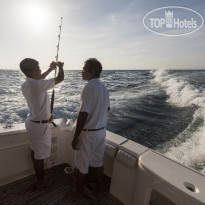
{"type": "Polygon", "coordinates": [[[165,156],[179,161],[180,163],[203,170],[205,165],[205,125],[203,119],[204,110],[198,109],[190,125],[174,140],[164,144],[169,147],[165,156]]]}

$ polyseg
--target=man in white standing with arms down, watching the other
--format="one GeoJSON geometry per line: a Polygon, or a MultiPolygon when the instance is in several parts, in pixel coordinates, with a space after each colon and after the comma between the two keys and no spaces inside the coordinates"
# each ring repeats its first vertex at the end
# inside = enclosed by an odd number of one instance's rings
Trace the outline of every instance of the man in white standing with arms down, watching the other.
{"type": "Polygon", "coordinates": [[[80,112],[72,141],[73,149],[77,150],[77,193],[73,196],[77,201],[83,198],[83,185],[89,169],[96,174],[97,196],[101,193],[107,114],[110,109],[108,90],[99,80],[101,71],[102,65],[97,59],[85,61],[82,78],[88,83],[81,93],[80,112]]]}

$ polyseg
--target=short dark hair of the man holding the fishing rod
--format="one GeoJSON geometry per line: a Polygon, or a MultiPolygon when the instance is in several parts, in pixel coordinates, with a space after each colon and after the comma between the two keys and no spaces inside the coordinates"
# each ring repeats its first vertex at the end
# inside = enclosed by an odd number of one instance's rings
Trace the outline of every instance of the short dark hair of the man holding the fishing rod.
{"type": "Polygon", "coordinates": [[[38,61],[32,58],[25,58],[19,64],[21,71],[27,76],[38,66],[38,61]]]}

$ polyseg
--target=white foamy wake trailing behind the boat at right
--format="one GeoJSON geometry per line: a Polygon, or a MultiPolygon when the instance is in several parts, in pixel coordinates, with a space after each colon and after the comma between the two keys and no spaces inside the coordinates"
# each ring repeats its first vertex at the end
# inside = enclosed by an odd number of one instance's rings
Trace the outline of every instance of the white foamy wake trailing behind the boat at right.
{"type": "Polygon", "coordinates": [[[152,71],[154,81],[159,83],[168,95],[167,102],[177,107],[196,105],[193,120],[189,126],[179,133],[174,140],[167,142],[169,147],[165,156],[177,160],[187,166],[196,164],[203,168],[205,164],[205,93],[190,85],[188,81],[169,74],[165,70],[152,71]],[[202,123],[196,126],[197,121],[202,123]],[[193,128],[196,129],[193,129],[193,128]]]}

